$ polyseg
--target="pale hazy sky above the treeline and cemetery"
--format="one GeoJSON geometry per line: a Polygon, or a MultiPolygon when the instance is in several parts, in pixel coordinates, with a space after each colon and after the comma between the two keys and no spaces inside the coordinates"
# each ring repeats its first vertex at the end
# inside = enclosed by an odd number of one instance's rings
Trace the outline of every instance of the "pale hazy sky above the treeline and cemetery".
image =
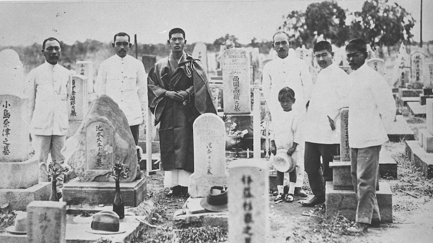
{"type": "MultiPolygon", "coordinates": [[[[421,0],[389,0],[415,19],[419,41],[421,0]]],[[[0,46],[32,45],[55,37],[68,45],[86,39],[112,42],[118,32],[137,34],[138,43],[166,43],[175,27],[185,30],[188,43],[213,43],[226,34],[248,44],[255,37],[269,41],[293,10],[305,12],[313,0],[293,1],[2,1],[0,46]]],[[[365,0],[338,0],[343,9],[361,11],[365,0]]],[[[433,40],[433,0],[423,0],[422,40],[433,40]]]]}

